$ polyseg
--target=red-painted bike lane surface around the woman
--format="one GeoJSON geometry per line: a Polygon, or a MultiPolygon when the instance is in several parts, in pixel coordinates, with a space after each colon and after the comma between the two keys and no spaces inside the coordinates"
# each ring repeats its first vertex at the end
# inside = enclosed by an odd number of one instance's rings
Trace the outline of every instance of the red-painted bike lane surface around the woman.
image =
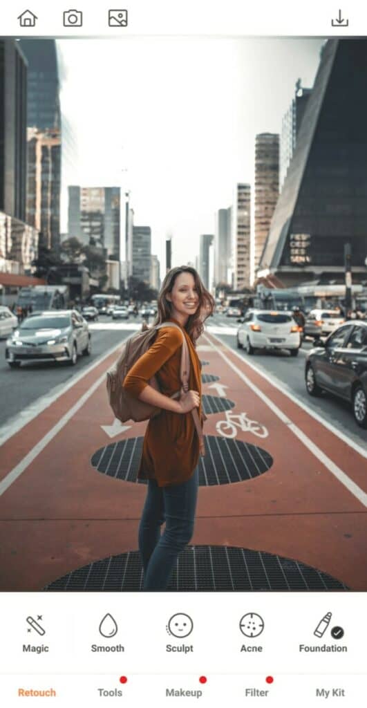
{"type": "MultiPolygon", "coordinates": [[[[225,447],[233,455],[233,445],[243,443],[268,462],[245,481],[228,476],[228,484],[200,487],[192,544],[285,556],[367,590],[366,457],[215,336],[205,333],[198,353],[207,362],[203,378],[214,377],[203,394],[226,408],[208,413],[204,470],[218,466],[225,447]]],[[[87,372],[1,449],[1,590],[40,590],[137,548],[145,486],[100,474],[91,463],[98,450],[136,441],[146,427],[127,423],[120,433],[110,430],[111,438],[102,427],[113,423],[105,370],[115,358],[87,372]]],[[[234,458],[230,464],[240,468],[234,458]]]]}

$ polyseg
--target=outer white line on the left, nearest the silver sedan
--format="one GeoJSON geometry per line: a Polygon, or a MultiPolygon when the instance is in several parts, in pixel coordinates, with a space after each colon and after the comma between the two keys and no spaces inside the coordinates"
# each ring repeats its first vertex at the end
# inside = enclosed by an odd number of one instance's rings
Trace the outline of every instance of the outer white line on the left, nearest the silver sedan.
{"type": "Polygon", "coordinates": [[[110,349],[107,349],[107,352],[105,352],[103,355],[101,355],[98,359],[93,361],[93,364],[89,366],[86,369],[81,370],[76,376],[72,377],[70,381],[62,383],[62,384],[57,384],[57,386],[54,387],[54,389],[51,389],[45,396],[40,396],[39,399],[36,399],[31,403],[27,408],[25,408],[23,411],[19,411],[19,413],[16,413],[16,416],[13,416],[13,418],[10,419],[0,430],[0,445],[4,445],[4,442],[11,438],[13,435],[19,432],[24,426],[27,425],[27,423],[30,423],[30,421],[33,421],[33,418],[37,418],[37,416],[42,413],[42,411],[45,411],[51,404],[54,403],[54,401],[57,401],[57,399],[62,396],[62,394],[66,393],[66,391],[69,391],[75,384],[80,381],[83,376],[86,376],[89,374],[95,367],[100,365],[103,360],[107,359],[111,354],[113,354],[115,351],[120,349],[122,346],[122,341],[120,344],[117,344],[110,349]]]}

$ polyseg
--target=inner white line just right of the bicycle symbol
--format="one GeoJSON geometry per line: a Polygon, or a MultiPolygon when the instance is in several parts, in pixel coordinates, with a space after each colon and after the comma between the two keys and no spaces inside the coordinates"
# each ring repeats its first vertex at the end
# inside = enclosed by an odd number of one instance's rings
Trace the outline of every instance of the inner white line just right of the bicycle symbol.
{"type": "MultiPolygon", "coordinates": [[[[219,341],[221,341],[221,340],[219,340],[219,341]]],[[[223,342],[221,342],[221,344],[223,344],[223,342]]],[[[312,452],[313,455],[315,455],[316,459],[318,459],[320,462],[322,462],[322,464],[327,469],[329,469],[329,471],[334,475],[334,477],[336,477],[336,479],[338,479],[339,482],[341,482],[341,484],[343,484],[346,487],[346,489],[348,489],[348,491],[350,491],[350,493],[353,494],[353,496],[355,496],[356,499],[358,499],[361,502],[361,504],[363,504],[363,506],[367,507],[367,493],[365,491],[363,491],[363,489],[361,489],[361,487],[359,487],[358,484],[356,484],[352,479],[350,479],[349,476],[345,472],[343,472],[343,470],[340,469],[340,467],[337,466],[337,464],[332,462],[332,459],[330,459],[330,457],[327,457],[327,455],[325,455],[325,453],[322,452],[322,450],[320,450],[320,447],[318,447],[318,445],[315,445],[315,443],[312,440],[310,440],[310,438],[308,438],[308,436],[305,435],[305,433],[303,433],[302,430],[300,430],[300,428],[298,428],[298,426],[296,426],[294,423],[292,423],[290,418],[288,418],[288,416],[286,416],[283,413],[283,411],[281,411],[281,409],[279,409],[278,406],[276,406],[276,404],[274,404],[273,401],[271,401],[271,399],[268,398],[268,396],[266,394],[264,394],[257,386],[255,386],[255,384],[253,384],[252,381],[250,381],[250,379],[245,374],[243,374],[243,372],[240,371],[240,369],[238,369],[238,367],[236,367],[235,364],[233,364],[233,362],[231,362],[231,360],[228,358],[228,356],[226,356],[226,354],[224,354],[221,349],[219,349],[215,345],[213,345],[213,346],[214,346],[214,349],[227,362],[228,366],[230,366],[231,369],[233,369],[233,371],[241,379],[243,379],[245,384],[247,384],[247,386],[250,387],[250,389],[252,389],[252,391],[257,396],[259,396],[260,399],[262,399],[262,401],[264,401],[264,404],[266,404],[269,407],[269,409],[271,411],[273,411],[273,413],[275,413],[275,415],[278,416],[278,418],[280,418],[280,420],[287,426],[287,428],[289,428],[289,430],[291,430],[292,433],[294,435],[296,435],[298,440],[301,440],[301,442],[303,442],[303,445],[305,445],[305,447],[307,447],[308,450],[310,450],[310,452],[312,452]]],[[[228,345],[225,345],[225,346],[227,349],[231,350],[231,348],[228,347],[228,345]]],[[[233,350],[231,350],[231,351],[233,352],[233,350]]],[[[243,361],[242,357],[240,357],[240,359],[243,361]]],[[[246,363],[247,363],[247,361],[246,361],[246,363]]],[[[255,367],[253,367],[253,368],[255,369],[255,367]]],[[[261,372],[259,372],[259,371],[257,371],[257,373],[260,373],[260,375],[262,375],[261,372]]],[[[262,377],[264,378],[264,375],[262,375],[262,377]]],[[[339,435],[339,433],[338,433],[338,435],[339,435]]]]}

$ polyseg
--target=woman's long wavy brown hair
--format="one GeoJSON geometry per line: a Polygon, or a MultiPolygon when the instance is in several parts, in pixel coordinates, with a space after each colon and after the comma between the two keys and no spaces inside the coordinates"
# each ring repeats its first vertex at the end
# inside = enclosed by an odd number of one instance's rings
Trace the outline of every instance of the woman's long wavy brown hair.
{"type": "Polygon", "coordinates": [[[168,292],[172,292],[177,275],[180,275],[180,273],[191,273],[194,278],[197,294],[199,295],[197,310],[194,314],[189,315],[187,323],[185,324],[187,334],[192,339],[192,342],[195,343],[204,331],[204,321],[214,312],[216,304],[214,297],[206,290],[206,287],[204,287],[199,273],[197,273],[191,265],[180,265],[178,268],[168,270],[162,283],[161,292],[158,295],[158,312],[153,321],[153,326],[165,322],[172,316],[172,303],[167,299],[166,295],[168,292]]]}

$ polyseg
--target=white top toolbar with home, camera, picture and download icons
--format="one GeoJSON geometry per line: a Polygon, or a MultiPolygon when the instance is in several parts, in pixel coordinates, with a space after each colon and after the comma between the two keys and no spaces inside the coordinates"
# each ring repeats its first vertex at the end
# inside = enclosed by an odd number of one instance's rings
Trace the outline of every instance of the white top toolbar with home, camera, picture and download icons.
{"type": "Polygon", "coordinates": [[[367,34],[366,5],[356,0],[343,7],[334,1],[310,0],[307,7],[291,0],[130,0],[116,8],[63,0],[19,1],[1,8],[3,36],[114,37],[185,36],[357,36],[367,34]]]}

